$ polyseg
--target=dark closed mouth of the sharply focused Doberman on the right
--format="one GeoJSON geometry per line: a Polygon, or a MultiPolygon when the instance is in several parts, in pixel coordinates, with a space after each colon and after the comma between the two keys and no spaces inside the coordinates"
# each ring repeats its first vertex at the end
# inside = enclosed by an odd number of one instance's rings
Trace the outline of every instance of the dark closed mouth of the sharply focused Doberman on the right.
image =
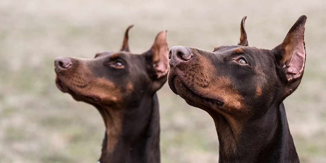
{"type": "Polygon", "coordinates": [[[186,82],[177,78],[177,75],[172,76],[169,80],[169,86],[173,93],[181,96],[185,101],[194,107],[198,108],[220,108],[224,105],[221,99],[203,97],[198,93],[195,93],[189,86],[186,85],[186,82]]]}

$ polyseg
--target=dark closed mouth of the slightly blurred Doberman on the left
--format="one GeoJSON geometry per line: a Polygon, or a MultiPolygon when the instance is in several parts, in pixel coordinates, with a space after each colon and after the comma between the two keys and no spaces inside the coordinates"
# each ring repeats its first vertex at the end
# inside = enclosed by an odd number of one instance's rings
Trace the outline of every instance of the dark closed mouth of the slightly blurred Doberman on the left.
{"type": "Polygon", "coordinates": [[[65,84],[63,81],[61,81],[58,76],[56,76],[55,84],[60,91],[70,94],[76,100],[80,100],[80,101],[91,100],[94,102],[102,101],[102,98],[100,98],[99,96],[84,95],[81,93],[81,91],[77,91],[77,90],[69,87],[67,84],[65,84]]]}

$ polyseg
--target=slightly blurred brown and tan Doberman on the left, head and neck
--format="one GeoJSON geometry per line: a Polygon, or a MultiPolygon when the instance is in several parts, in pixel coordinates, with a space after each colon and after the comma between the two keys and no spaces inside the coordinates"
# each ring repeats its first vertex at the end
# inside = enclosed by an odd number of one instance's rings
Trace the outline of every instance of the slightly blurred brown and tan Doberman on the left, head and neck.
{"type": "Polygon", "coordinates": [[[93,59],[57,57],[55,83],[75,100],[92,104],[106,127],[101,163],[160,162],[159,108],[156,91],[169,70],[166,31],[150,50],[129,52],[128,31],[119,52],[93,59]]]}

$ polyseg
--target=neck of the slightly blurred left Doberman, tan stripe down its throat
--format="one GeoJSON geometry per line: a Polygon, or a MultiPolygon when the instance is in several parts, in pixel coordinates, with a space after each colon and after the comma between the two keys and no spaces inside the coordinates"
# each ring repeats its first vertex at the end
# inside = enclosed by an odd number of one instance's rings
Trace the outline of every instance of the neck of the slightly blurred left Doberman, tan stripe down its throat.
{"type": "Polygon", "coordinates": [[[156,94],[126,109],[96,106],[106,126],[99,162],[160,162],[156,94]]]}

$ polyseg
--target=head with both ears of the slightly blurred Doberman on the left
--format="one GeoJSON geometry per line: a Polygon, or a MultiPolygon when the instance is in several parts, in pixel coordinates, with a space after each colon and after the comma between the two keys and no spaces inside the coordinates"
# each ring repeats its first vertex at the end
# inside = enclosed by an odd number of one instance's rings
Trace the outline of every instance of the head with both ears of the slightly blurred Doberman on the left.
{"type": "Polygon", "coordinates": [[[98,52],[93,59],[57,57],[57,87],[78,101],[120,108],[137,106],[143,96],[153,95],[168,72],[166,31],[158,33],[150,50],[134,54],[128,45],[132,26],[118,52],[98,52]]]}

